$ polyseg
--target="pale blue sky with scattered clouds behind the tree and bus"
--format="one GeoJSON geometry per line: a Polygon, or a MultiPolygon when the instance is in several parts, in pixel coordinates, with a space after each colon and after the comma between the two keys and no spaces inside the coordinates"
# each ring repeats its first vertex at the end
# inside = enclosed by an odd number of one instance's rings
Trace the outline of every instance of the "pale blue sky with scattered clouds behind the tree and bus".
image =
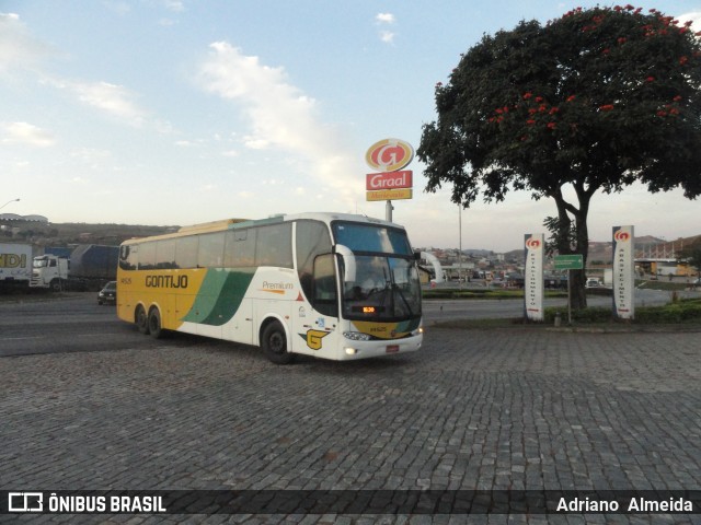
{"type": "MultiPolygon", "coordinates": [[[[366,200],[365,153],[387,138],[418,148],[435,85],[460,54],[521,20],[596,3],[0,0],[0,213],[152,225],[304,211],[383,219],[386,203],[366,200]]],[[[701,31],[701,0],[635,5],[701,31]]],[[[424,190],[424,167],[406,167],[414,198],[393,201],[415,247],[518,249],[556,214],[528,192],[459,212],[451,187],[424,190]]],[[[632,186],[594,197],[589,236],[632,224],[671,241],[700,234],[700,199],[632,186]]]]}

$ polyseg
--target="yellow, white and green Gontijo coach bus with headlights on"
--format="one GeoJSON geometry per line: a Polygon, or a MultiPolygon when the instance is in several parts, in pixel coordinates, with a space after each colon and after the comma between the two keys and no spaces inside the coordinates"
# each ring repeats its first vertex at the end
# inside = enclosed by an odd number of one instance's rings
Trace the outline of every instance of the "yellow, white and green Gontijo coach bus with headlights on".
{"type": "Polygon", "coordinates": [[[143,334],[184,331],[353,360],[416,351],[417,256],[394,223],[342,213],[229,219],[119,247],[117,315],[143,334]]]}

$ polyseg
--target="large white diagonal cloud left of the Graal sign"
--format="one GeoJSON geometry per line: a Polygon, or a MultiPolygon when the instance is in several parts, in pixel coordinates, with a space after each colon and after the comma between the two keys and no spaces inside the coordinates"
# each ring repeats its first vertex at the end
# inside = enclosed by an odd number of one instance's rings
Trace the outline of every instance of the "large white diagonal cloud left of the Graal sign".
{"type": "MultiPolygon", "coordinates": [[[[198,81],[208,92],[231,101],[248,117],[249,149],[275,149],[311,165],[311,175],[335,189],[357,188],[355,163],[318,115],[317,102],[290,84],[283,68],[261,63],[226,42],[210,45],[198,81]]],[[[304,170],[307,173],[308,170],[304,170]]]]}

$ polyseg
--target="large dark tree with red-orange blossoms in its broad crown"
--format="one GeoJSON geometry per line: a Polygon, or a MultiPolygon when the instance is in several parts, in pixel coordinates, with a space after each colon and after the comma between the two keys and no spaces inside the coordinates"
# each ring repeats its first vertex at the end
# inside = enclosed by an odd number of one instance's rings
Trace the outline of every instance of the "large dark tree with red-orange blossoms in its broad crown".
{"type": "Polygon", "coordinates": [[[699,36],[690,23],[630,4],[577,8],[544,25],[522,21],[485,35],[436,85],[438,119],[424,125],[417,150],[426,189],[450,183],[463,207],[480,195],[502,201],[514,189],[553,198],[560,253],[585,259],[596,191],[637,180],[696,198],[699,36]]]}

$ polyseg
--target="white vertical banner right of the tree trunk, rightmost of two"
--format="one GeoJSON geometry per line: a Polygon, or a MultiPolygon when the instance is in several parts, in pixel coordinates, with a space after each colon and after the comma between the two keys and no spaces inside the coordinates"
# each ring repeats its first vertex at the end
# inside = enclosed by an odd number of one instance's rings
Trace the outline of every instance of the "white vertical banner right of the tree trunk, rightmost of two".
{"type": "Polygon", "coordinates": [[[635,318],[635,262],[633,226],[613,226],[613,313],[635,318]]]}

